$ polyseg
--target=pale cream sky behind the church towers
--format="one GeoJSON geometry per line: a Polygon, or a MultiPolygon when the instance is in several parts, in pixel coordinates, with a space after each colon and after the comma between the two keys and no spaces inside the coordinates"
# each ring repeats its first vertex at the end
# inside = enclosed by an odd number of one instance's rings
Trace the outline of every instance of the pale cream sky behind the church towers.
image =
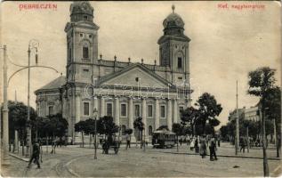
{"type": "MultiPolygon", "coordinates": [[[[71,2],[4,2],[1,4],[1,46],[7,45],[9,59],[28,64],[28,42],[39,41],[39,64],[58,69],[65,75],[66,34],[71,2]],[[56,9],[21,9],[22,4],[56,4],[56,9]]],[[[247,74],[263,66],[277,69],[280,85],[281,25],[278,2],[91,2],[98,32],[98,50],[106,60],[144,63],[158,62],[157,39],[163,35],[163,20],[172,12],[172,4],[185,23],[189,43],[190,82],[196,102],[202,93],[211,93],[222,104],[221,125],[228,121],[230,110],[254,106],[258,98],[246,93],[247,74]],[[228,9],[219,8],[227,4],[228,9]],[[232,5],[260,5],[263,8],[238,10],[232,5]]],[[[258,6],[256,6],[258,7],[258,6]]],[[[3,53],[1,51],[1,62],[3,53]]],[[[34,53],[31,64],[35,64],[34,53]]],[[[2,65],[2,63],[1,63],[2,65]]],[[[8,64],[9,76],[19,69],[8,64]]],[[[1,68],[2,71],[2,68],[1,68]]],[[[2,72],[1,72],[2,73],[2,72]]],[[[31,69],[30,104],[36,107],[34,91],[60,74],[48,69],[31,69]]],[[[21,71],[8,88],[9,100],[27,103],[28,72],[21,71]]],[[[1,82],[2,85],[2,82],[1,82]]],[[[2,87],[1,87],[2,90],[2,87]]],[[[2,99],[2,98],[1,98],[2,99]]]]}

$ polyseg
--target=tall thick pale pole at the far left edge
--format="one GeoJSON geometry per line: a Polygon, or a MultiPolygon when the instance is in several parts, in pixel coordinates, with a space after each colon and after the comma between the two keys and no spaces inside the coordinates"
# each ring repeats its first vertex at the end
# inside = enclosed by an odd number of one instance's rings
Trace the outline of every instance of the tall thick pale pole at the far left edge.
{"type": "Polygon", "coordinates": [[[4,49],[4,62],[3,62],[3,139],[2,139],[2,150],[3,150],[3,160],[2,165],[9,166],[10,158],[9,158],[9,113],[8,113],[8,77],[7,77],[7,48],[6,45],[3,47],[4,49]]]}

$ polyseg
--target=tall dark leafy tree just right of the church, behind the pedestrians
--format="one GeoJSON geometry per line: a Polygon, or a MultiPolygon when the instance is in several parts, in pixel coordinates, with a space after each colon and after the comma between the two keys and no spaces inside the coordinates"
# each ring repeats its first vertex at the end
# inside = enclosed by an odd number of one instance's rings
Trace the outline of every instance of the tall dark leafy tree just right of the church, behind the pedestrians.
{"type": "Polygon", "coordinates": [[[218,104],[214,96],[210,93],[203,93],[197,100],[199,117],[198,120],[202,125],[203,134],[205,134],[205,123],[218,117],[222,112],[222,105],[218,104]]]}

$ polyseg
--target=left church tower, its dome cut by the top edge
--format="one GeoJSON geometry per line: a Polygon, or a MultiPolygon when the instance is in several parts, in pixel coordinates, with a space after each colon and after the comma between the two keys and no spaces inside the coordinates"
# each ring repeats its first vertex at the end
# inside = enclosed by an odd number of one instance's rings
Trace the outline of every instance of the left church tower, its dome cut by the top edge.
{"type": "Polygon", "coordinates": [[[89,2],[70,5],[67,33],[67,81],[91,83],[92,64],[98,60],[98,29],[93,23],[93,7],[89,2]]]}

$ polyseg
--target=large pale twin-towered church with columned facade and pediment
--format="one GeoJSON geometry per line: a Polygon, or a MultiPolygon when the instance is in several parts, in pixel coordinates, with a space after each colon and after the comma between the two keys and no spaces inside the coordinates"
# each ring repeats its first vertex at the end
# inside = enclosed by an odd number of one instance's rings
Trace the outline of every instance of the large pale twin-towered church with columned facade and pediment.
{"type": "MultiPolygon", "coordinates": [[[[180,122],[180,110],[190,104],[189,37],[184,35],[180,15],[169,14],[164,35],[157,41],[159,61],[141,62],[103,59],[98,51],[99,26],[93,22],[88,2],[70,5],[67,35],[66,77],[61,76],[36,90],[40,117],[62,113],[68,120],[68,137],[76,142],[74,125],[80,120],[112,116],[122,130],[133,128],[142,117],[146,138],[160,125],[172,129],[180,122]]],[[[78,141],[78,140],[77,140],[78,141]]]]}

